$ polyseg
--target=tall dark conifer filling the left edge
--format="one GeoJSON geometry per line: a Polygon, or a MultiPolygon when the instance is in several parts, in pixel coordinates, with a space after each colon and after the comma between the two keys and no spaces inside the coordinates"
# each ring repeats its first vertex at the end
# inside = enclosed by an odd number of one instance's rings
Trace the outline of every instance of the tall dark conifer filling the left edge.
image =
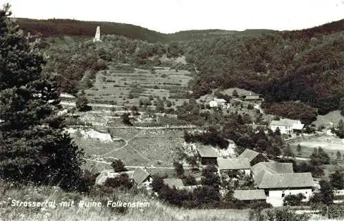
{"type": "Polygon", "coordinates": [[[6,4],[0,9],[0,178],[75,189],[83,152],[56,116],[58,84],[41,74],[39,40],[24,36],[10,15],[6,4]]]}

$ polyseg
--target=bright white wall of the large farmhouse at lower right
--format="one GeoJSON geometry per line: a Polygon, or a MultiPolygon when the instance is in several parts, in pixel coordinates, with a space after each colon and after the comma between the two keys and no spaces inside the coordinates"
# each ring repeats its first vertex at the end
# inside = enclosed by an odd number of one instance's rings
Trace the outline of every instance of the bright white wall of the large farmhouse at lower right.
{"type": "Polygon", "coordinates": [[[266,202],[272,204],[273,207],[283,206],[283,193],[285,194],[285,196],[297,195],[299,193],[302,193],[303,196],[305,196],[305,199],[303,201],[307,202],[310,200],[310,196],[312,196],[312,189],[270,190],[269,196],[266,197],[266,202]]]}

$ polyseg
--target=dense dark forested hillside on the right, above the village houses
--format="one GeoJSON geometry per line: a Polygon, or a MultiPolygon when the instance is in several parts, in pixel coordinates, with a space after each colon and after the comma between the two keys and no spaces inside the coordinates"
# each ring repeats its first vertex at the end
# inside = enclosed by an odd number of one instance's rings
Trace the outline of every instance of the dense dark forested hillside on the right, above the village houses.
{"type": "Polygon", "coordinates": [[[316,116],[311,107],[326,114],[344,96],[344,20],[308,30],[189,41],[184,48],[187,61],[200,70],[196,97],[218,87],[242,87],[263,94],[268,112],[310,123],[316,116]]]}

